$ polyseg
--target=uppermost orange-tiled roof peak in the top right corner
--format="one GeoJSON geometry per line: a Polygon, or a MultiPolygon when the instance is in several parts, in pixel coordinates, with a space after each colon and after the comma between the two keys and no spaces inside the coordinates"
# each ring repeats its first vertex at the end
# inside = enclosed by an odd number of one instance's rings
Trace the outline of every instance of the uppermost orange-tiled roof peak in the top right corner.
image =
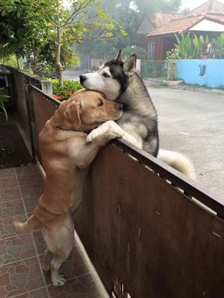
{"type": "Polygon", "coordinates": [[[209,0],[193,9],[187,16],[196,16],[204,13],[224,15],[224,4],[217,0],[209,0]]]}

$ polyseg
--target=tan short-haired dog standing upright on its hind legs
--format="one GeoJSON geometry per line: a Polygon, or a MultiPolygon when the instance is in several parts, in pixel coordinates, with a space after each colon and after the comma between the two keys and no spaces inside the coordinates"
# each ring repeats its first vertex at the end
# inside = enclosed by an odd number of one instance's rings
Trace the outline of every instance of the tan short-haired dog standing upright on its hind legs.
{"type": "Polygon", "coordinates": [[[74,224],[71,213],[81,202],[89,166],[102,146],[123,136],[109,129],[87,144],[86,132],[105,121],[117,120],[122,114],[122,104],[107,101],[101,93],[80,90],[60,105],[39,135],[46,171],[44,193],[26,223],[15,220],[12,224],[20,232],[42,228],[47,244],[43,269],[51,270],[54,286],[63,286],[66,282],[58,270],[72,250],[74,224]]]}

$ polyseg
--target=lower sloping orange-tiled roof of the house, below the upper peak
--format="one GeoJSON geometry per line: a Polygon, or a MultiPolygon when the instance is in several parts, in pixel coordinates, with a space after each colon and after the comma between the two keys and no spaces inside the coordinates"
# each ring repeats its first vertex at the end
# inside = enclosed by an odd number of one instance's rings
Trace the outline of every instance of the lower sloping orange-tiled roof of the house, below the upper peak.
{"type": "Polygon", "coordinates": [[[190,29],[193,25],[197,24],[199,21],[203,19],[224,23],[224,19],[221,19],[215,16],[210,16],[207,14],[199,15],[199,16],[188,16],[185,18],[180,18],[174,21],[170,21],[164,26],[149,33],[147,36],[164,35],[164,34],[172,34],[172,33],[184,33],[185,31],[190,29]]]}

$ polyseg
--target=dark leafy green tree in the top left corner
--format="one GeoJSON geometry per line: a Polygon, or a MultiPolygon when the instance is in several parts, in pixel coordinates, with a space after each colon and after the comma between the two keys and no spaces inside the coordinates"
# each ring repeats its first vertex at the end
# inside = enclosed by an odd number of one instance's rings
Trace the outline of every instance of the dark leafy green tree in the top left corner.
{"type": "MultiPolygon", "coordinates": [[[[47,41],[49,27],[38,16],[27,14],[26,0],[3,0],[0,4],[0,56],[26,56],[35,71],[39,52],[47,41]]],[[[18,65],[19,68],[19,65],[18,65]]]]}

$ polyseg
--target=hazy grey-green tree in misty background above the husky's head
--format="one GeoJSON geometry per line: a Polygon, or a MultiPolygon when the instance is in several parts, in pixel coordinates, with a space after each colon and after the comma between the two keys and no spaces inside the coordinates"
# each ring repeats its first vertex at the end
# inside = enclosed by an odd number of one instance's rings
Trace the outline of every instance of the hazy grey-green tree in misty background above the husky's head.
{"type": "Polygon", "coordinates": [[[111,57],[113,48],[126,48],[138,45],[138,34],[136,29],[143,15],[150,17],[154,13],[161,12],[179,12],[181,0],[104,0],[100,8],[107,9],[108,14],[116,20],[120,27],[125,30],[127,35],[121,34],[119,30],[113,30],[113,37],[109,42],[87,41],[78,46],[79,53],[93,55],[96,58],[111,57]]]}

